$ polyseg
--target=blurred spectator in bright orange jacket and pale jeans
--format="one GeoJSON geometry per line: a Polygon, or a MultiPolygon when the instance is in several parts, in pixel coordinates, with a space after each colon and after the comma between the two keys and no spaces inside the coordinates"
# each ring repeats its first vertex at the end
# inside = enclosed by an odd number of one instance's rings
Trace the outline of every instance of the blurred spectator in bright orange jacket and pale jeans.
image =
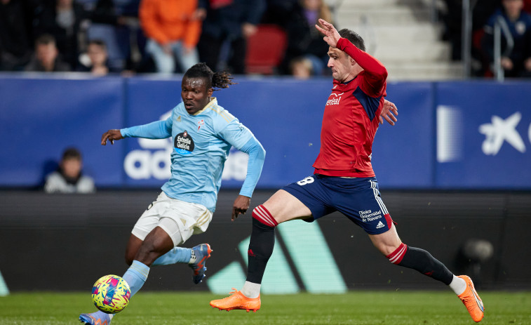
{"type": "Polygon", "coordinates": [[[148,37],[146,51],[152,55],[159,73],[186,72],[199,62],[197,41],[201,20],[197,0],[142,0],[140,25],[148,37]],[[175,57],[174,57],[175,55],[175,57]]]}

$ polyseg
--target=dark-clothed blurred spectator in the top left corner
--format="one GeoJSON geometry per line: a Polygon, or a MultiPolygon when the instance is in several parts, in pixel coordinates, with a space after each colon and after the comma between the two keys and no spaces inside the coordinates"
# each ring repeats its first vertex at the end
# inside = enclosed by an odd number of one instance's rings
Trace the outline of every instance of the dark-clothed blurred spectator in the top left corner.
{"type": "Polygon", "coordinates": [[[32,56],[28,1],[0,0],[0,71],[22,70],[32,56]]]}

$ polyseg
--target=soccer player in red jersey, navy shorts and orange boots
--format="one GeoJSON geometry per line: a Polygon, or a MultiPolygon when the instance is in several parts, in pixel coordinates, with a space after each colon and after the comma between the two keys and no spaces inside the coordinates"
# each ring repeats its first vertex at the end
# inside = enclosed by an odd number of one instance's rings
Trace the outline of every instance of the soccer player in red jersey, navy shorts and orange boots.
{"type": "Polygon", "coordinates": [[[314,175],[283,187],[253,210],[246,283],[241,291],[210,305],[220,310],[259,310],[260,284],[273,252],[276,225],[294,219],[312,222],[339,211],[362,227],[391,263],[450,286],[472,319],[480,321],[483,303],[471,279],[455,276],[427,251],[403,244],[380,196],[370,159],[380,117],[389,121],[390,116],[384,102],[387,69],[365,53],[358,34],[349,29],[337,32],[325,20],[319,23],[322,27],[316,28],[330,46],[328,67],[334,86],[325,105],[314,175]]]}

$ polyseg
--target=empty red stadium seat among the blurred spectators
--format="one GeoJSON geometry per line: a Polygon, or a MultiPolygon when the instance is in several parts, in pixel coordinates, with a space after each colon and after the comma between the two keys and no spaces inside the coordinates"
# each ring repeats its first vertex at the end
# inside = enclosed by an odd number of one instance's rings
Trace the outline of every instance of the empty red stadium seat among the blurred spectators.
{"type": "Polygon", "coordinates": [[[257,32],[247,40],[246,72],[274,74],[284,57],[286,33],[276,25],[257,27],[257,32]]]}

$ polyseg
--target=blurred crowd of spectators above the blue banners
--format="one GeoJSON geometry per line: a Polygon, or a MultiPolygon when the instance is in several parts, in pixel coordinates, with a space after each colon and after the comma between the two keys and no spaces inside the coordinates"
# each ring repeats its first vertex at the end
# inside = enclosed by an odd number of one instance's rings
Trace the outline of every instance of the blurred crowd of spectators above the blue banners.
{"type": "MultiPolygon", "coordinates": [[[[462,0],[445,0],[443,39],[461,59],[462,0]]],[[[283,29],[287,46],[275,74],[329,74],[318,18],[325,0],[0,0],[0,71],[160,73],[196,62],[246,74],[247,40],[261,24],[283,29]]],[[[531,0],[481,0],[473,10],[473,75],[492,77],[492,30],[502,17],[507,77],[531,75],[531,0]]],[[[334,22],[337,25],[337,22],[334,22]]],[[[338,26],[341,27],[341,26],[338,26]]]]}

